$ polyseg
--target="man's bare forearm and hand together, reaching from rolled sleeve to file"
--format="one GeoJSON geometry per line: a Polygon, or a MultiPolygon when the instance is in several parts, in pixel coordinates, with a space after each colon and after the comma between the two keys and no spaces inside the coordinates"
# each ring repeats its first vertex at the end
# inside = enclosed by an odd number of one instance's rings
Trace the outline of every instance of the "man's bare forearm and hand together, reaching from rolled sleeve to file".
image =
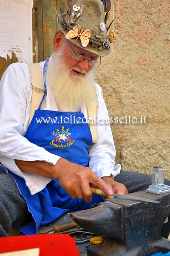
{"type": "Polygon", "coordinates": [[[90,168],[71,163],[59,158],[55,165],[40,161],[15,160],[20,170],[58,180],[71,198],[85,198],[87,203],[92,200],[90,184],[102,189],[108,196],[113,195],[112,186],[106,184],[94,174],[90,168]]]}

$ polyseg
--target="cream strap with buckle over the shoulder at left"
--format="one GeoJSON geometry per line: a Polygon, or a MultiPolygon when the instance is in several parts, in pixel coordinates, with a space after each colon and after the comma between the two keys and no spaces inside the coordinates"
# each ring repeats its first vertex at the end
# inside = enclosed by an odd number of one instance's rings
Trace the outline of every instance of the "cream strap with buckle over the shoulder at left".
{"type": "MultiPolygon", "coordinates": [[[[30,118],[29,124],[34,116],[35,110],[40,105],[42,100],[42,93],[45,92],[44,84],[42,81],[42,72],[39,63],[32,63],[28,64],[30,73],[31,73],[31,80],[32,80],[32,99],[31,99],[31,111],[30,111],[30,118]]],[[[41,105],[41,110],[44,109],[44,100],[41,105]]]]}

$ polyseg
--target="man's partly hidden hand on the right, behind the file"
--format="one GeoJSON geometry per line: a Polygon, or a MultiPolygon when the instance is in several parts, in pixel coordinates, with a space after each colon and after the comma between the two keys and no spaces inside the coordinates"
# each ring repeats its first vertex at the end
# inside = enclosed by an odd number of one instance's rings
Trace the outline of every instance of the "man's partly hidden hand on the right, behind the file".
{"type": "MultiPolygon", "coordinates": [[[[112,178],[112,175],[102,177],[102,180],[104,180],[105,183],[108,184],[108,186],[110,186],[110,188],[113,190],[113,193],[122,194],[122,195],[128,194],[128,191],[127,191],[127,188],[125,187],[125,185],[114,181],[112,178]]],[[[111,196],[108,196],[107,198],[110,198],[110,197],[111,196]]]]}

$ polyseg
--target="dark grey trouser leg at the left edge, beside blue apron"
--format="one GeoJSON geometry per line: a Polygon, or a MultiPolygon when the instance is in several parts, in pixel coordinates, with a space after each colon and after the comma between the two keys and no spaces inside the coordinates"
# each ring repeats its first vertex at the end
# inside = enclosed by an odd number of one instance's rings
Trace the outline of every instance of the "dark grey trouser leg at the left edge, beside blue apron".
{"type": "Polygon", "coordinates": [[[8,236],[11,228],[19,230],[20,225],[31,220],[32,215],[15,181],[0,169],[0,237],[8,236]]]}

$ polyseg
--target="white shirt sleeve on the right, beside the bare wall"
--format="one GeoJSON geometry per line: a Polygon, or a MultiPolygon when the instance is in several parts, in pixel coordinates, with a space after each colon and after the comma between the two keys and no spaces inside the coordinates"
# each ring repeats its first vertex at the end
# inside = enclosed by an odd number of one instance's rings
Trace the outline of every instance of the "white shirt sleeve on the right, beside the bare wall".
{"type": "Polygon", "coordinates": [[[116,150],[111,132],[111,119],[102,96],[102,89],[97,86],[96,129],[97,142],[89,150],[89,167],[99,177],[113,177],[120,173],[121,165],[115,166],[116,150]]]}

